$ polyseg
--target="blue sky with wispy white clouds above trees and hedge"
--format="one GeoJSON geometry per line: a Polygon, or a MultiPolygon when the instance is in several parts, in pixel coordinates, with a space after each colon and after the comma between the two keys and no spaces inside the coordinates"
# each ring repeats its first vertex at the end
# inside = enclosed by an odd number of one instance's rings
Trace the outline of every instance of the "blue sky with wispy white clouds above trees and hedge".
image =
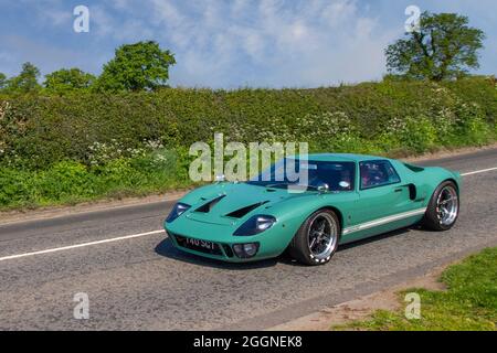
{"type": "MultiPolygon", "coordinates": [[[[480,68],[497,73],[495,0],[0,0],[0,72],[98,75],[116,47],[157,41],[175,53],[171,86],[318,87],[381,79],[405,9],[457,12],[487,35],[480,68]],[[74,8],[89,10],[76,33],[74,8]]],[[[41,79],[42,81],[42,79],[41,79]]]]}

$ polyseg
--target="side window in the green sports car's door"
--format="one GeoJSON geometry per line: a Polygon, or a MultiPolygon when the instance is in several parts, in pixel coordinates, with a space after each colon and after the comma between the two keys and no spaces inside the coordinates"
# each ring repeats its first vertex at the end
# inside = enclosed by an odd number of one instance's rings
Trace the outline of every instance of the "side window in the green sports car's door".
{"type": "Polygon", "coordinates": [[[362,190],[396,184],[401,181],[395,169],[389,161],[366,161],[361,162],[359,165],[362,190]]]}

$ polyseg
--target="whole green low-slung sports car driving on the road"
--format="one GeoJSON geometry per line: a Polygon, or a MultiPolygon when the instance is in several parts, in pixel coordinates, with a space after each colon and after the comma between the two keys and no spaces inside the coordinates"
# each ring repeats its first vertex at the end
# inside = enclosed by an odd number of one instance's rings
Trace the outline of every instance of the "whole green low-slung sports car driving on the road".
{"type": "Polygon", "coordinates": [[[243,263],[288,250],[303,264],[321,265],[340,244],[417,223],[450,229],[459,191],[461,175],[443,168],[358,154],[293,157],[247,182],[190,192],[165,228],[177,248],[209,258],[243,263]],[[288,162],[307,171],[305,184],[282,178],[288,162]]]}

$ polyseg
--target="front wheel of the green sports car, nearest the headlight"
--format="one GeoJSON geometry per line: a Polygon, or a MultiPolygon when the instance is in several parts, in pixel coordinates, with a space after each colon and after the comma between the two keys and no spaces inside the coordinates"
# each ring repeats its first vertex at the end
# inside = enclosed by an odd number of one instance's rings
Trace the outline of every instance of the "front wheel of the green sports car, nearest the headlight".
{"type": "Polygon", "coordinates": [[[335,212],[313,213],[294,236],[288,253],[302,264],[316,266],[328,263],[338,247],[340,223],[335,212]]]}

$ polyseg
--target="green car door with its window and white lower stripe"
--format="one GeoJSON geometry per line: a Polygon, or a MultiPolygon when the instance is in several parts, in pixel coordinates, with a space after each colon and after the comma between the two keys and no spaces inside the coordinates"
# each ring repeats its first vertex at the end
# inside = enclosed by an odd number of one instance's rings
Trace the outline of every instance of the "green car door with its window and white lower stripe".
{"type": "Polygon", "coordinates": [[[389,160],[362,161],[358,169],[358,197],[345,236],[358,239],[400,227],[398,218],[413,207],[409,185],[389,160]]]}

